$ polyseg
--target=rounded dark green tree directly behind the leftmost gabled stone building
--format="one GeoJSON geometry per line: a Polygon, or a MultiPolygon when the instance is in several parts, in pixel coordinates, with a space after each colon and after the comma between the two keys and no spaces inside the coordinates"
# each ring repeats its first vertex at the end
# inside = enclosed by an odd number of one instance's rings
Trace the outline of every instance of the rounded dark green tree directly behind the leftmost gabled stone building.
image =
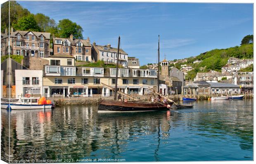
{"type": "Polygon", "coordinates": [[[38,26],[33,14],[29,14],[28,16],[21,17],[17,23],[13,25],[15,30],[31,30],[31,31],[40,31],[40,27],[38,26]]]}

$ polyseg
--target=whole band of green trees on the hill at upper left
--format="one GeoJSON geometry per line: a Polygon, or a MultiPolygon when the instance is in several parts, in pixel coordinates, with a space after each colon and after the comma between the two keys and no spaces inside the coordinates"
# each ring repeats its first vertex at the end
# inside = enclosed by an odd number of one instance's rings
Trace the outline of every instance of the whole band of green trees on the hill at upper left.
{"type": "MultiPolygon", "coordinates": [[[[1,5],[1,32],[3,33],[9,24],[9,2],[1,5]]],[[[16,1],[10,1],[10,26],[15,30],[41,31],[54,34],[56,37],[83,38],[83,28],[69,19],[59,20],[58,23],[49,16],[41,13],[32,14],[16,1]]]]}

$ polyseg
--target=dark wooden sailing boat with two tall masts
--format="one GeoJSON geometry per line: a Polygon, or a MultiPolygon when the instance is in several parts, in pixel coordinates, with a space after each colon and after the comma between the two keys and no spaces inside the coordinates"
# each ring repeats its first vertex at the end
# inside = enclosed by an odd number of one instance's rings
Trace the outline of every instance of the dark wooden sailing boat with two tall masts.
{"type": "MultiPolygon", "coordinates": [[[[103,84],[105,87],[114,90],[114,100],[101,100],[99,103],[98,110],[110,110],[110,111],[159,111],[159,110],[169,110],[173,101],[168,103],[160,103],[160,102],[151,102],[151,101],[138,101],[136,98],[124,94],[121,91],[117,90],[117,77],[118,77],[118,65],[119,65],[119,44],[120,44],[120,36],[118,38],[118,48],[117,48],[117,63],[116,63],[116,84],[115,88],[108,86],[107,84],[103,84]],[[118,101],[116,100],[117,93],[122,94],[123,96],[127,96],[133,101],[118,101]],[[168,108],[167,108],[168,107],[168,108]]],[[[159,70],[159,41],[158,41],[158,70],[159,70]]],[[[159,92],[159,71],[157,75],[157,86],[159,92]]],[[[157,93],[157,92],[156,92],[157,93]]],[[[159,93],[158,93],[159,94],[159,93]]]]}

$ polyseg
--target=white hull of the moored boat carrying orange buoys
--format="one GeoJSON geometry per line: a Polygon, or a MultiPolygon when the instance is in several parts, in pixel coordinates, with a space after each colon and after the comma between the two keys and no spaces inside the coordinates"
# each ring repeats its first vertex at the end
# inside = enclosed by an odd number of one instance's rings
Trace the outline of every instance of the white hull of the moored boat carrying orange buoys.
{"type": "Polygon", "coordinates": [[[1,108],[8,109],[51,109],[52,104],[45,104],[45,105],[24,105],[24,104],[9,104],[9,103],[1,103],[1,108]]]}

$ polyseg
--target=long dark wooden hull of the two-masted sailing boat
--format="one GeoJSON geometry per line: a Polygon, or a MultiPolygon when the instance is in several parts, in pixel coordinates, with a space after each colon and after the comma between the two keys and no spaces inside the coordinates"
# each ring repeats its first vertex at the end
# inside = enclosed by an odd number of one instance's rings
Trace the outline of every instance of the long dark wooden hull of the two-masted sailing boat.
{"type": "Polygon", "coordinates": [[[122,102],[122,101],[100,101],[98,110],[111,110],[111,111],[159,111],[169,110],[166,106],[173,103],[151,103],[151,102],[122,102]]]}

